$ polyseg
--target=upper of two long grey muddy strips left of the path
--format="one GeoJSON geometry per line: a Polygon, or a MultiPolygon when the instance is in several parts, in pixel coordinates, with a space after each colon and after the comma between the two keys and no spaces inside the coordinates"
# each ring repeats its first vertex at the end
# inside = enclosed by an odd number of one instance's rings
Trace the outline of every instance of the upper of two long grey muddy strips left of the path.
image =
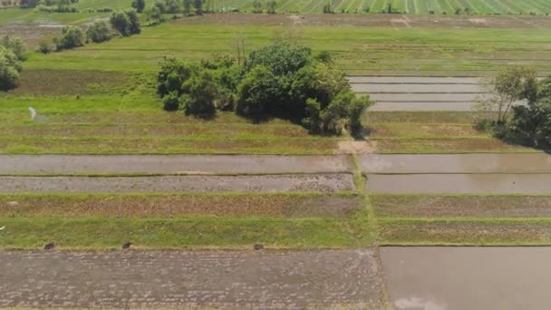
{"type": "Polygon", "coordinates": [[[0,155],[0,174],[335,173],[351,170],[351,159],[347,156],[0,155]]]}

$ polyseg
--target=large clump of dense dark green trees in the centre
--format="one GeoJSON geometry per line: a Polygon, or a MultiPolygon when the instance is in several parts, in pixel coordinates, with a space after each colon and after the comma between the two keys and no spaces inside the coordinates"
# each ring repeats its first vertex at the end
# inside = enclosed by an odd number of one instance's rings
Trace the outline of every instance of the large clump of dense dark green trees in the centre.
{"type": "Polygon", "coordinates": [[[205,117],[217,109],[234,110],[256,121],[295,121],[324,134],[359,131],[362,113],[372,104],[356,97],[330,55],[314,56],[302,45],[285,43],[249,53],[240,68],[223,56],[200,64],[166,58],[157,91],[168,111],[205,117]]]}

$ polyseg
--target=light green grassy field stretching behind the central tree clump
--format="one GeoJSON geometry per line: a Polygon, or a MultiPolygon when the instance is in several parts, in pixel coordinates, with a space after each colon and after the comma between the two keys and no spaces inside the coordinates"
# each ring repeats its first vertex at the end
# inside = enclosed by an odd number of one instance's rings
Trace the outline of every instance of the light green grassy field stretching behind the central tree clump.
{"type": "Polygon", "coordinates": [[[507,64],[551,71],[547,29],[221,26],[206,24],[209,19],[161,24],[137,36],[74,51],[33,54],[24,66],[27,70],[152,72],[165,55],[199,60],[215,53],[234,54],[235,37],[243,34],[247,50],[291,38],[314,51],[329,51],[353,75],[479,75],[507,64]]]}

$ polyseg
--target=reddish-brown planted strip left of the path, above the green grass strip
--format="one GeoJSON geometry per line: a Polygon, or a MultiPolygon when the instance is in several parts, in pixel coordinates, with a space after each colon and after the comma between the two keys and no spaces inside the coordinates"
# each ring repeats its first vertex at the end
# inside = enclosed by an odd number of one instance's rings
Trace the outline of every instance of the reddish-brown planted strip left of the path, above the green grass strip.
{"type": "Polygon", "coordinates": [[[0,195],[4,218],[349,218],[361,208],[355,193],[0,195]]]}

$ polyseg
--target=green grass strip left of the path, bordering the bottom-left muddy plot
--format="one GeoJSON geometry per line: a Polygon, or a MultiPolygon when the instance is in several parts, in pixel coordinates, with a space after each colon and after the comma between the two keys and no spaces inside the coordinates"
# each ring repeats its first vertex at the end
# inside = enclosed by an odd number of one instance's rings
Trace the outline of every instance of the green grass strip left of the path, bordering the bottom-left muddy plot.
{"type": "Polygon", "coordinates": [[[360,219],[332,218],[0,218],[0,248],[136,247],[369,247],[372,231],[360,219]]]}

